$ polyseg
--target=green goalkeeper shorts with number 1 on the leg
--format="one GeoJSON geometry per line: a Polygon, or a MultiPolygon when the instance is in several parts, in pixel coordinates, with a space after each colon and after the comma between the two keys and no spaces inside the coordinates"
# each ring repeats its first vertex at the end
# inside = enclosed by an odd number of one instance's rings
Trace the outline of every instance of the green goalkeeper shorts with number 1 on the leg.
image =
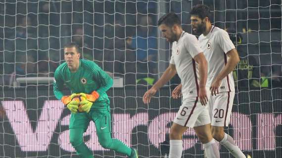
{"type": "Polygon", "coordinates": [[[96,133],[111,132],[109,108],[108,110],[91,109],[89,113],[71,114],[69,128],[83,128],[86,131],[91,120],[95,123],[96,133]]]}

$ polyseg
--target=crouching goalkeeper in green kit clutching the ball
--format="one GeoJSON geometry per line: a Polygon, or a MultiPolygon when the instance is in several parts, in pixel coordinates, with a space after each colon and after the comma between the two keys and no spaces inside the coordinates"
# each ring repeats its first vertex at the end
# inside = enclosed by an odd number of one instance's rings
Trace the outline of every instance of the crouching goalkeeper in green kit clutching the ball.
{"type": "Polygon", "coordinates": [[[83,142],[83,133],[92,120],[103,148],[138,158],[135,149],[111,138],[110,102],[106,91],[112,86],[113,80],[93,61],[80,59],[79,47],[75,43],[65,45],[64,58],[66,62],[55,71],[53,91],[56,98],[71,111],[69,138],[77,154],[81,158],[93,158],[92,151],[83,142]],[[64,84],[72,91],[72,95],[64,96],[64,84]],[[86,97],[86,100],[80,103],[72,101],[76,94],[86,97]]]}

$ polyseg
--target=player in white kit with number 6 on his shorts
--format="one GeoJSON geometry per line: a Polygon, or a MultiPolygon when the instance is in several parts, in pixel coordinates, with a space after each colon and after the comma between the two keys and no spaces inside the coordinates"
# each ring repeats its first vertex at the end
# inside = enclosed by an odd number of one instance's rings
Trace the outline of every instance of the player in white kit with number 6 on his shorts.
{"type": "Polygon", "coordinates": [[[181,158],[182,136],[191,127],[209,158],[219,158],[219,150],[212,138],[208,112],[209,87],[206,86],[207,61],[195,36],[182,30],[181,21],[175,13],[167,13],[158,21],[167,41],[172,43],[170,65],[162,77],[143,95],[148,104],[151,97],[178,73],[183,84],[183,104],[170,128],[169,158],[181,158]]]}

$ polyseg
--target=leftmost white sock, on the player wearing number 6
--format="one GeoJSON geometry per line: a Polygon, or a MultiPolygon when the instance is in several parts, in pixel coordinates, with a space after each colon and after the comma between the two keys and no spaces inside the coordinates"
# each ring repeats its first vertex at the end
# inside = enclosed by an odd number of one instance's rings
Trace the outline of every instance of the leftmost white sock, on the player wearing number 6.
{"type": "Polygon", "coordinates": [[[170,140],[169,158],[181,158],[182,140],[170,140]]]}

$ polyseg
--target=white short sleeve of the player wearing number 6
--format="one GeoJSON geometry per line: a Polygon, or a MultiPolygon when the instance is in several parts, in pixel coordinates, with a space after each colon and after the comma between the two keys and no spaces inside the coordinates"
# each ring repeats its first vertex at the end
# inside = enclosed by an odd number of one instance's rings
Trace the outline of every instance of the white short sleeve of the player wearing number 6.
{"type": "Polygon", "coordinates": [[[186,36],[184,40],[184,46],[190,53],[192,58],[194,58],[194,56],[198,55],[199,53],[203,52],[198,39],[194,35],[186,36]]]}

